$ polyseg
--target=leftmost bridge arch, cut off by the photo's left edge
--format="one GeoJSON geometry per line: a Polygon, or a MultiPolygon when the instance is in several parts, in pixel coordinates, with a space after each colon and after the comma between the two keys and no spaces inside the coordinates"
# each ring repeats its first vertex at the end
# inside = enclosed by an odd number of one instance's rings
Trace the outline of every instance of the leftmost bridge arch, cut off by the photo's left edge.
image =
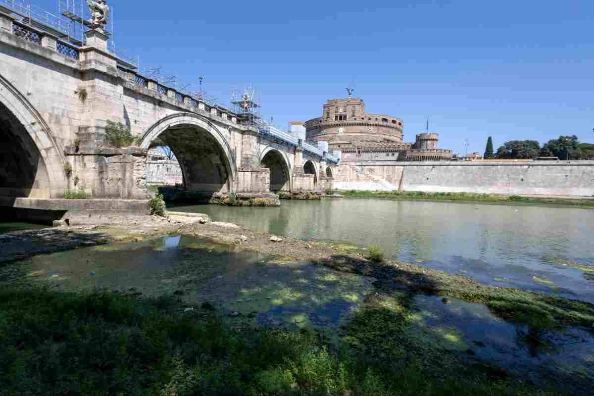
{"type": "Polygon", "coordinates": [[[0,197],[56,198],[66,158],[33,105],[0,75],[0,197]]]}

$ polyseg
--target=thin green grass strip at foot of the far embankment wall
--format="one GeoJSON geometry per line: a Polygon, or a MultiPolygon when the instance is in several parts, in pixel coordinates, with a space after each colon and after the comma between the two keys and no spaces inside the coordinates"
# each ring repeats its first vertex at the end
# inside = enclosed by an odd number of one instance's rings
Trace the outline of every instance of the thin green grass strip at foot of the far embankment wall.
{"type": "Polygon", "coordinates": [[[340,191],[346,198],[424,199],[426,201],[497,202],[529,205],[567,205],[593,207],[594,199],[534,198],[519,195],[475,194],[472,192],[424,192],[424,191],[340,191]]]}

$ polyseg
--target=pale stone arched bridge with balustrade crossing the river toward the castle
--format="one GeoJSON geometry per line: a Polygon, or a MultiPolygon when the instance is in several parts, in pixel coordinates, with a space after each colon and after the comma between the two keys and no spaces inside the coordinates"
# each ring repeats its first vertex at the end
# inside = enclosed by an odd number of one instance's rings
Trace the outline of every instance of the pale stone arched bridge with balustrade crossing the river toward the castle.
{"type": "Polygon", "coordinates": [[[100,31],[77,47],[0,8],[0,65],[4,199],[60,198],[68,190],[145,199],[147,150],[157,137],[192,191],[266,197],[332,186],[336,158],[138,74],[107,49],[100,31]],[[108,122],[126,126],[135,144],[109,147],[108,122]]]}

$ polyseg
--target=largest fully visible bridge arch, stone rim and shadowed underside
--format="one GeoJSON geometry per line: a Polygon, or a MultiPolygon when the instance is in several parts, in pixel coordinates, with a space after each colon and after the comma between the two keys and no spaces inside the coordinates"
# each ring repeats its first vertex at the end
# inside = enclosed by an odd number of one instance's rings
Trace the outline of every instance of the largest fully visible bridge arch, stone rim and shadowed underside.
{"type": "Polygon", "coordinates": [[[154,123],[140,144],[149,148],[160,138],[182,169],[185,188],[201,192],[234,192],[237,169],[228,140],[207,118],[176,113],[154,123]]]}

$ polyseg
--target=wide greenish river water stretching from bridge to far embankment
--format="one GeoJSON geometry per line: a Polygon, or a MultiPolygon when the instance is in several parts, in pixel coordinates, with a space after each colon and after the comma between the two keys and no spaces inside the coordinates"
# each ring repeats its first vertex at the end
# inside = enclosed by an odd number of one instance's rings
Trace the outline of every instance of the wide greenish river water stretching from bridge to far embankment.
{"type": "Polygon", "coordinates": [[[594,302],[594,210],[459,202],[323,199],[276,208],[200,205],[248,229],[380,245],[387,259],[497,286],[594,302]]]}

